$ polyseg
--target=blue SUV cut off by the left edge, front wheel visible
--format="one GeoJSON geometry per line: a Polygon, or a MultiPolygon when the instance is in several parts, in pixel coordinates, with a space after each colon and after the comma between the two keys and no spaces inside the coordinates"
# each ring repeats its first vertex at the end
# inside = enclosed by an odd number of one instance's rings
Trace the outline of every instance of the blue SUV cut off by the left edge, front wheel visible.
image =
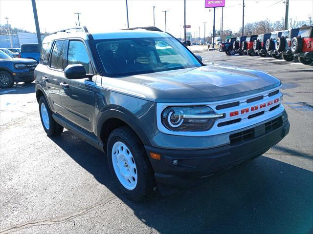
{"type": "Polygon", "coordinates": [[[0,51],[0,87],[10,88],[14,82],[31,83],[37,64],[33,59],[12,59],[0,51]]]}

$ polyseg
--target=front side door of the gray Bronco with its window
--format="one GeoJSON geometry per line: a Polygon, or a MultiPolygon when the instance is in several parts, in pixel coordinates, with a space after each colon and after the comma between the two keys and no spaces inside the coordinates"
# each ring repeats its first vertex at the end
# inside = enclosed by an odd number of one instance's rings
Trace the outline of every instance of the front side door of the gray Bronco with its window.
{"type": "MultiPolygon", "coordinates": [[[[86,74],[94,74],[85,42],[71,39],[68,41],[67,47],[65,66],[82,64],[86,74]]],[[[90,133],[94,132],[94,88],[95,77],[93,79],[67,79],[63,76],[60,80],[62,115],[90,133]]]]}

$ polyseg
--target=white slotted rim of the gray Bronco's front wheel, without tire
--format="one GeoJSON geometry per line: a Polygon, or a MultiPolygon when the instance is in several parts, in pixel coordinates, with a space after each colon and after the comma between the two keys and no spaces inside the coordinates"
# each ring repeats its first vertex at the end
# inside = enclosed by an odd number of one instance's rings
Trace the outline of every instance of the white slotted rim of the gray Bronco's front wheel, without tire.
{"type": "Polygon", "coordinates": [[[112,164],[119,182],[128,190],[133,190],[137,185],[137,167],[129,148],[121,141],[112,147],[112,164]]]}

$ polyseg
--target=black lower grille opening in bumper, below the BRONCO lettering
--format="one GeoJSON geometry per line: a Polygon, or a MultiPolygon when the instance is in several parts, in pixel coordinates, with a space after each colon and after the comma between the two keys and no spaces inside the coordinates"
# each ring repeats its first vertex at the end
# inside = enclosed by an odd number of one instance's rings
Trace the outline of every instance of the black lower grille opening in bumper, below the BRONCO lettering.
{"type": "MultiPolygon", "coordinates": [[[[258,129],[258,133],[261,131],[260,128],[264,128],[264,134],[267,134],[283,125],[283,119],[282,117],[275,118],[273,120],[270,120],[266,122],[265,124],[261,124],[255,128],[250,128],[248,130],[234,133],[229,135],[229,141],[230,144],[239,144],[244,141],[250,140],[255,138],[256,128],[258,129]]],[[[262,134],[263,135],[263,134],[262,134]]],[[[260,134],[257,134],[257,137],[262,136],[260,134]]]]}

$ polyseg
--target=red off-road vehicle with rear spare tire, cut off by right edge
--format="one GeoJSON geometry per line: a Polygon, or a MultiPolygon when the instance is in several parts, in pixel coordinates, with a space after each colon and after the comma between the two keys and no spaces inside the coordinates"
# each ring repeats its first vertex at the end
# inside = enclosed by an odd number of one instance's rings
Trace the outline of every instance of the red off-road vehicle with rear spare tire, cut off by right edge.
{"type": "Polygon", "coordinates": [[[291,40],[291,52],[303,64],[313,62],[313,26],[300,28],[298,36],[291,40]]]}

